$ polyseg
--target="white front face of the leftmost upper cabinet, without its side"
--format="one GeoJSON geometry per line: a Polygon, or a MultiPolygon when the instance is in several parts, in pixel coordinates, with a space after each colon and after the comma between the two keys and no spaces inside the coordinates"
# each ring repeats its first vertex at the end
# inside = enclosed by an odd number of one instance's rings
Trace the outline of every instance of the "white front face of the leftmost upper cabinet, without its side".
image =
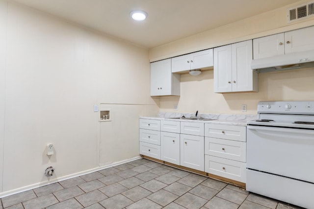
{"type": "Polygon", "coordinates": [[[151,63],[151,96],[171,95],[171,59],[151,63]]]}

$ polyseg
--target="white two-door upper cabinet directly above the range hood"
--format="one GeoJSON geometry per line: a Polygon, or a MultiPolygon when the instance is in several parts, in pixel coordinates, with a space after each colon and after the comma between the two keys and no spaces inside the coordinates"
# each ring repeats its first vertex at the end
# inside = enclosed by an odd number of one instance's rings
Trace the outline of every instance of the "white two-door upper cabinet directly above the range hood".
{"type": "Polygon", "coordinates": [[[253,58],[314,50],[314,26],[253,40],[253,58]]]}

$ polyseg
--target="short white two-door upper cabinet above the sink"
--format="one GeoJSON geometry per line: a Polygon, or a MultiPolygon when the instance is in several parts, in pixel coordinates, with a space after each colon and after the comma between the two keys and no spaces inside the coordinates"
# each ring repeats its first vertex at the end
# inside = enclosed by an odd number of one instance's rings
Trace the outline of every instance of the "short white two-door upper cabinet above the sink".
{"type": "Polygon", "coordinates": [[[213,50],[204,50],[171,58],[172,73],[194,69],[207,69],[213,66],[213,50]]]}

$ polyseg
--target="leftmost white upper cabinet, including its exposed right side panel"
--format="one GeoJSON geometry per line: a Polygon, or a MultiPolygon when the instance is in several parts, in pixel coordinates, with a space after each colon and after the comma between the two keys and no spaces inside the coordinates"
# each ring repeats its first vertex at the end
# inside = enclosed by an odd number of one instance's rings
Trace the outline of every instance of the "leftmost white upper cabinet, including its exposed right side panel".
{"type": "Polygon", "coordinates": [[[180,95],[180,75],[171,73],[171,59],[151,63],[151,96],[180,95]]]}

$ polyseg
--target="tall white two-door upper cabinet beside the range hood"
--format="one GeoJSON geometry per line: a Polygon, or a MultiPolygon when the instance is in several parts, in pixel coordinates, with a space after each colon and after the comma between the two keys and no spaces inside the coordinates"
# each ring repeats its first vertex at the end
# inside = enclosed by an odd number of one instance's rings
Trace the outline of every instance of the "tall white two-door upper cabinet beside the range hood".
{"type": "Polygon", "coordinates": [[[214,92],[258,91],[252,40],[214,48],[214,92]]]}

